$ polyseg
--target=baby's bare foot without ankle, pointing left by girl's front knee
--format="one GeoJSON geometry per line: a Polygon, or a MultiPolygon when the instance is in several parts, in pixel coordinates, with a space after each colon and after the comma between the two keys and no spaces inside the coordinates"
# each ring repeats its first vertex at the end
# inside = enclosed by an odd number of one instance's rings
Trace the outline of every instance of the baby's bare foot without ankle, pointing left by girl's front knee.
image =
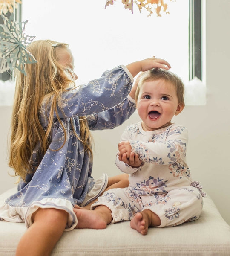
{"type": "Polygon", "coordinates": [[[104,229],[107,226],[107,223],[101,214],[96,211],[79,208],[75,208],[73,211],[78,218],[76,228],[104,229]]]}

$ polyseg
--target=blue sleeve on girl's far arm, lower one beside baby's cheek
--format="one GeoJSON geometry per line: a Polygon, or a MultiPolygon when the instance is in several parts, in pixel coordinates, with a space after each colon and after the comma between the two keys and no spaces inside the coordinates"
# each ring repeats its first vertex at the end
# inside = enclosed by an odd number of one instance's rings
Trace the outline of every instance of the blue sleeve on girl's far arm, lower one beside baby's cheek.
{"type": "Polygon", "coordinates": [[[136,109],[135,100],[129,95],[123,102],[101,113],[89,116],[90,130],[113,129],[121,125],[136,109]]]}

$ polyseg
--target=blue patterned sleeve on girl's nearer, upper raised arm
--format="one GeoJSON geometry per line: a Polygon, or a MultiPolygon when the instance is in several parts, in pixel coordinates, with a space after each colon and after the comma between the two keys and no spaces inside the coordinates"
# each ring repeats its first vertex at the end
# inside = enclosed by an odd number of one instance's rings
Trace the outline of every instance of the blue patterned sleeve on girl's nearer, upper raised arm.
{"type": "MultiPolygon", "coordinates": [[[[58,116],[72,118],[106,111],[126,98],[132,83],[133,77],[125,66],[107,70],[99,79],[63,92],[58,104],[58,116]]],[[[46,118],[49,118],[49,107],[49,103],[44,102],[40,111],[46,113],[46,118]]]]}

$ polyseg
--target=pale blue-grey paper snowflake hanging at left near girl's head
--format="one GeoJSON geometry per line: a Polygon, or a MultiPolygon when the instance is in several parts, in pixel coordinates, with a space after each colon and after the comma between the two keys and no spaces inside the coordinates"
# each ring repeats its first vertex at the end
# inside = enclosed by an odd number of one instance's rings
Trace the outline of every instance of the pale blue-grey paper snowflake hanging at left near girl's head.
{"type": "Polygon", "coordinates": [[[26,75],[25,64],[37,62],[26,49],[35,36],[24,34],[28,20],[17,22],[14,20],[13,14],[9,19],[3,15],[1,17],[4,20],[4,25],[0,24],[0,58],[2,58],[0,73],[16,68],[26,75]]]}

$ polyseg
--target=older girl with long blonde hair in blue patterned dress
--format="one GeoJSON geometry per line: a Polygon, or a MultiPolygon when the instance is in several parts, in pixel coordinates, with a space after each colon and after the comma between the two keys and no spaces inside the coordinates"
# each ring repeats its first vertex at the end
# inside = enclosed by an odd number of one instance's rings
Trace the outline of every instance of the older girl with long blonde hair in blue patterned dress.
{"type": "Polygon", "coordinates": [[[37,63],[26,64],[27,76],[17,76],[11,126],[9,166],[20,182],[0,207],[0,218],[25,221],[28,227],[17,256],[50,255],[63,231],[77,225],[75,204],[89,204],[106,187],[127,185],[120,177],[92,178],[89,129],[121,125],[135,110],[133,77],[152,67],[170,67],[149,58],[75,87],[67,44],[40,40],[28,50],[37,63]]]}

